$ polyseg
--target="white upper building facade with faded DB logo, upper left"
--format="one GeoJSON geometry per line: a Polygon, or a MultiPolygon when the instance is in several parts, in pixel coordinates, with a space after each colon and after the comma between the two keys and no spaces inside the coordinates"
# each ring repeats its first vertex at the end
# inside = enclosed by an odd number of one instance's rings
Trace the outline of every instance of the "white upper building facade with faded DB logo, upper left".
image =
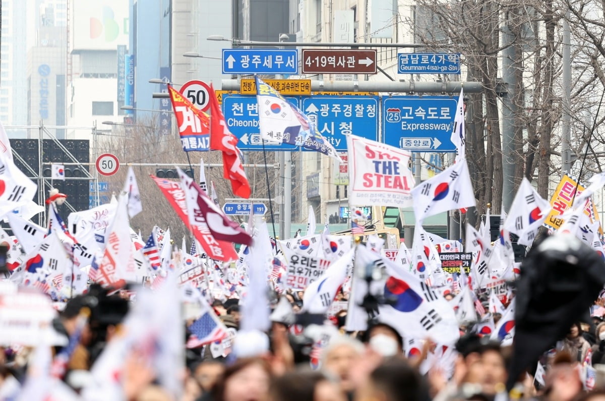
{"type": "Polygon", "coordinates": [[[128,45],[128,1],[74,1],[72,50],[116,50],[128,45]]]}

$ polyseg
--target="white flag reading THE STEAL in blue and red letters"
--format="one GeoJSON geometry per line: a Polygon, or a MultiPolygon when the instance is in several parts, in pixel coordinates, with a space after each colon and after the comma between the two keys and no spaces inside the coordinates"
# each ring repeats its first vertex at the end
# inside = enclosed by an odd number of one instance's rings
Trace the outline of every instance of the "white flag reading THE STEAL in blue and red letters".
{"type": "Polygon", "coordinates": [[[350,205],[412,205],[410,153],[355,135],[347,136],[347,150],[350,205]]]}

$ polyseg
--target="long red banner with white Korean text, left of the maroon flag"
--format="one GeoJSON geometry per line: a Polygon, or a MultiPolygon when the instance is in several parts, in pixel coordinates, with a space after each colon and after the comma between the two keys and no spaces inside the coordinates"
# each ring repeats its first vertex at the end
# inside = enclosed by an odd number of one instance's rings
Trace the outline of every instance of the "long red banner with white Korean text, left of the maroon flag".
{"type": "Polygon", "coordinates": [[[198,240],[210,259],[221,260],[221,262],[237,259],[237,253],[235,253],[235,248],[231,242],[215,239],[208,227],[204,228],[201,225],[191,226],[189,224],[186,194],[179,182],[158,178],[153,175],[151,178],[155,181],[155,184],[160,188],[166,199],[168,199],[172,208],[177,212],[178,217],[189,227],[195,239],[198,240]]]}

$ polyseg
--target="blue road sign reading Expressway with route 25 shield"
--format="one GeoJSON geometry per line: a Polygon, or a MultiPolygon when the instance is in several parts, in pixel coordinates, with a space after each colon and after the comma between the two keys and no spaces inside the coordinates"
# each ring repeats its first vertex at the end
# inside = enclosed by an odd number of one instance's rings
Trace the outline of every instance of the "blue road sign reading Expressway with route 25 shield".
{"type": "Polygon", "coordinates": [[[384,143],[411,151],[453,152],[457,100],[448,96],[392,96],[382,99],[384,143]]]}

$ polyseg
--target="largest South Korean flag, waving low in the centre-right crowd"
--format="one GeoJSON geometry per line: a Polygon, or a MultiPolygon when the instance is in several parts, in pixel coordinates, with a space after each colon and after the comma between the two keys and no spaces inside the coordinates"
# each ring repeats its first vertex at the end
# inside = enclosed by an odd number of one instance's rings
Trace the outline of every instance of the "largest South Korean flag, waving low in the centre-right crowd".
{"type": "Polygon", "coordinates": [[[395,263],[358,245],[356,270],[384,267],[387,278],[382,292],[390,305],[379,305],[378,320],[393,326],[403,336],[431,337],[452,344],[460,337],[458,322],[449,303],[426,283],[395,263]]]}

